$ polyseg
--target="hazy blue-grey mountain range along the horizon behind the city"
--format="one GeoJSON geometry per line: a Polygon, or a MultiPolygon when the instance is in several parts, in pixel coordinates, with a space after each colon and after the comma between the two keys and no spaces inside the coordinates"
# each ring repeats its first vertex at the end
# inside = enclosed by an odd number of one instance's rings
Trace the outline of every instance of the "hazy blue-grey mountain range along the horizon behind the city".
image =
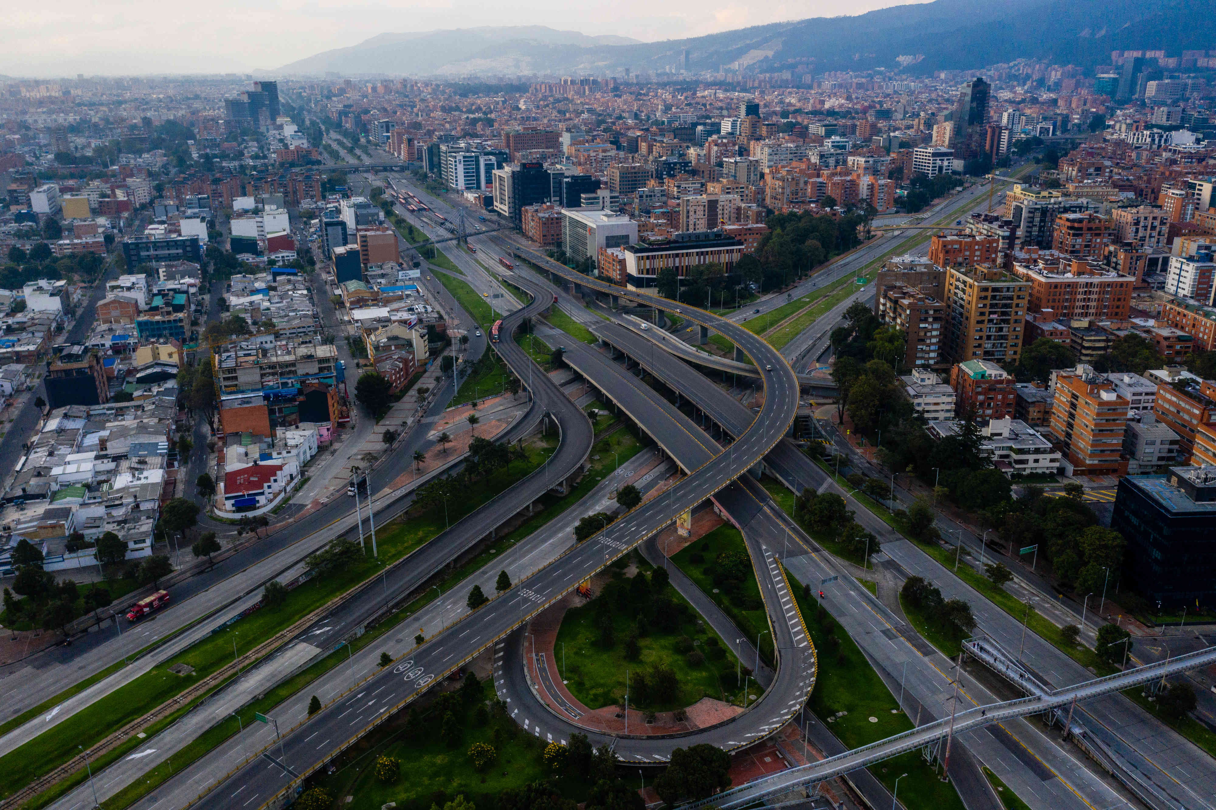
{"type": "Polygon", "coordinates": [[[625,68],[666,71],[687,51],[691,73],[745,66],[749,72],[885,68],[924,75],[1019,57],[1091,67],[1109,63],[1114,50],[1165,50],[1177,56],[1212,43],[1216,15],[1194,0],[935,0],[659,43],[544,26],[381,34],[274,73],[602,75],[625,68]]]}

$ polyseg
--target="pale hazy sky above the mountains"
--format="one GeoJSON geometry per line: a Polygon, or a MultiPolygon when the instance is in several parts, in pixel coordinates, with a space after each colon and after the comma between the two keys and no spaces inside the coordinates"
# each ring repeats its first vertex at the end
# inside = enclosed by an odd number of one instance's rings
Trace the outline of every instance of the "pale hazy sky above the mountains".
{"type": "Polygon", "coordinates": [[[643,41],[919,0],[57,0],[0,7],[0,73],[74,77],[274,69],[387,32],[536,24],[643,41]]]}

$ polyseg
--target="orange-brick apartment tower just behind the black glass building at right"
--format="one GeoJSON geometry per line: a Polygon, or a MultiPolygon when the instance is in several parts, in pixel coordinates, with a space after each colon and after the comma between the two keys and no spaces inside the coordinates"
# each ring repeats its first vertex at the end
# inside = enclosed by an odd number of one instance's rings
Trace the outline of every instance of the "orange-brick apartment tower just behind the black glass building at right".
{"type": "Polygon", "coordinates": [[[1130,403],[1114,383],[1090,373],[1055,376],[1051,431],[1070,476],[1125,476],[1124,428],[1130,403]]]}

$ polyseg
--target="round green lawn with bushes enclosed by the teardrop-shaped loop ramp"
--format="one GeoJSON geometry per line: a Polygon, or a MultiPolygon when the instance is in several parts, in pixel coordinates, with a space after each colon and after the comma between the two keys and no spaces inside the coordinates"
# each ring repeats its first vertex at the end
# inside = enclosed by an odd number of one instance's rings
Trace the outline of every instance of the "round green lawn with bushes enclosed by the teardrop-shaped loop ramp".
{"type": "Polygon", "coordinates": [[[631,617],[621,612],[613,614],[614,643],[603,648],[599,629],[596,624],[597,606],[589,604],[567,611],[562,628],[553,647],[553,657],[558,670],[563,671],[567,686],[584,705],[598,709],[606,705],[619,705],[625,699],[625,671],[648,670],[654,664],[665,664],[680,679],[680,696],[669,703],[638,703],[637,693],[630,699],[634,708],[651,711],[671,711],[692,705],[697,701],[710,697],[715,701],[742,701],[743,691],[736,682],[736,658],[730,652],[726,640],[708,628],[698,626],[697,614],[692,606],[671,586],[666,585],[663,595],[672,602],[688,608],[689,621],[672,632],[651,629],[638,639],[640,654],[630,660],[625,657],[625,639],[635,630],[631,617]],[[705,654],[713,639],[724,652],[720,660],[706,660],[691,664],[685,653],[677,649],[682,636],[692,639],[694,649],[705,654]],[[564,656],[564,664],[563,664],[564,656]]]}

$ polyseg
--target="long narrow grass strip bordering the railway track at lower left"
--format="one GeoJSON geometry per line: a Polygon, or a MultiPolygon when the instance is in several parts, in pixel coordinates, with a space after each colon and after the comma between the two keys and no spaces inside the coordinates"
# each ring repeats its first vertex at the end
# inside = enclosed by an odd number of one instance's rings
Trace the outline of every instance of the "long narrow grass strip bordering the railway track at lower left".
{"type": "MultiPolygon", "coordinates": [[[[535,469],[542,454],[534,451],[510,469],[466,489],[467,496],[449,504],[449,518],[455,522],[511,486],[520,476],[535,469]]],[[[393,562],[420,547],[444,530],[443,510],[394,521],[377,531],[381,559],[393,562]]],[[[371,549],[371,540],[367,540],[371,549]]],[[[381,570],[370,556],[344,572],[314,579],[288,594],[277,611],[258,611],[221,632],[208,636],[173,659],[120,686],[106,697],[81,709],[71,719],[39,735],[28,743],[0,756],[0,798],[12,794],[39,775],[46,774],[78,753],[78,744],[95,744],[111,732],[152,710],[201,677],[223,668],[236,653],[246,653],[291,626],[302,617],[322,607],[347,590],[381,570]],[[185,663],[195,668],[187,676],[169,673],[169,666],[185,663]]]]}

